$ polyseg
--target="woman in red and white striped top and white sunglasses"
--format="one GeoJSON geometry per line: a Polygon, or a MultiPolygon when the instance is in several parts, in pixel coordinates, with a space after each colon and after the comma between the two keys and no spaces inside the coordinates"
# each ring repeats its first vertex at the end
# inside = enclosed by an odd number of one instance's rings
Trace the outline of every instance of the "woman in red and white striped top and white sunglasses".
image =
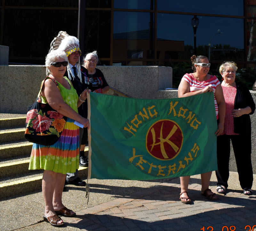
{"type": "MultiPolygon", "coordinates": [[[[220,81],[216,76],[208,74],[211,64],[209,63],[207,57],[202,55],[193,55],[191,57],[191,61],[193,64],[192,69],[194,70],[194,73],[186,74],[182,77],[178,90],[179,98],[194,96],[205,92],[213,92],[216,117],[218,120],[218,130],[215,132],[215,135],[219,136],[224,130],[226,109],[220,81]]],[[[211,189],[209,189],[211,175],[212,172],[201,174],[201,194],[206,196],[209,200],[216,200],[217,195],[212,193],[211,189]]],[[[186,204],[191,203],[191,199],[188,197],[189,179],[190,176],[180,177],[180,201],[186,204]]]]}

